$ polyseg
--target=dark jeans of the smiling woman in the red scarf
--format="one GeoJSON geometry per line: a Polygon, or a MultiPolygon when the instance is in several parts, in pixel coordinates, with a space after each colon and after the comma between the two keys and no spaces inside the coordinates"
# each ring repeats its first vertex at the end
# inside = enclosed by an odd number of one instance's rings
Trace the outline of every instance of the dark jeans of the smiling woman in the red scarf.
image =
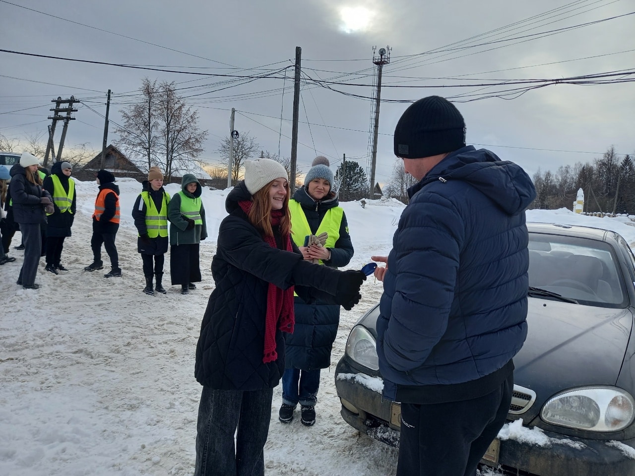
{"type": "Polygon", "coordinates": [[[272,399],[272,388],[241,392],[203,387],[194,476],[263,476],[272,399]]]}

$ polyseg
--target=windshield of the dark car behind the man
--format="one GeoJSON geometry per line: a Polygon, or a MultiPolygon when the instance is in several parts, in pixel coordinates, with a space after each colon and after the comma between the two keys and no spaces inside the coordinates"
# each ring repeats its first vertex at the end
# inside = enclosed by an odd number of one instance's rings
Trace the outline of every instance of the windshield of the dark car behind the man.
{"type": "Polygon", "coordinates": [[[530,233],[529,286],[580,304],[623,307],[622,274],[612,247],[603,241],[530,233]]]}

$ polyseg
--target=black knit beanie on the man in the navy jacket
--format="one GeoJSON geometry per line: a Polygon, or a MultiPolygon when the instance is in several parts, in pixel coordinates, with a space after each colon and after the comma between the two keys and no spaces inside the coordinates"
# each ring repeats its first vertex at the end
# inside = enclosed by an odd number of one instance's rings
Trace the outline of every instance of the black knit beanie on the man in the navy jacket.
{"type": "Polygon", "coordinates": [[[451,102],[428,96],[413,103],[397,122],[394,152],[402,159],[420,159],[465,147],[465,121],[451,102]]]}

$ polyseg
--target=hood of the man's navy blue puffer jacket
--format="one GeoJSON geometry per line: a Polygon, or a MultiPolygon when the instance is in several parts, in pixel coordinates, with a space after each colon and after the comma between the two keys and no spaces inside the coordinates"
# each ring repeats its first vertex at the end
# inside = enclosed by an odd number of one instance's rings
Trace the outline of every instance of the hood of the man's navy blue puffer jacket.
{"type": "Polygon", "coordinates": [[[448,154],[421,182],[408,189],[408,195],[412,197],[429,183],[439,180],[469,183],[508,215],[520,213],[536,197],[531,178],[523,168],[514,162],[500,160],[490,150],[476,150],[471,145],[448,154]]]}

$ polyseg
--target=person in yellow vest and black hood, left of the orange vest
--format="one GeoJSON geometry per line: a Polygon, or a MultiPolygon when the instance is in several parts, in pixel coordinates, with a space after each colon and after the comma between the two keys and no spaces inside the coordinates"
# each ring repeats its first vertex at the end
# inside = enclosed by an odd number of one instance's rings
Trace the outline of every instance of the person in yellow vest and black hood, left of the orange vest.
{"type": "Polygon", "coordinates": [[[70,178],[72,169],[70,162],[55,162],[51,167],[51,175],[44,178],[44,190],[53,197],[55,209],[47,218],[46,268],[44,269],[53,274],[68,271],[61,261],[64,239],[70,236],[70,227],[73,226],[77,206],[75,181],[70,178]]]}

